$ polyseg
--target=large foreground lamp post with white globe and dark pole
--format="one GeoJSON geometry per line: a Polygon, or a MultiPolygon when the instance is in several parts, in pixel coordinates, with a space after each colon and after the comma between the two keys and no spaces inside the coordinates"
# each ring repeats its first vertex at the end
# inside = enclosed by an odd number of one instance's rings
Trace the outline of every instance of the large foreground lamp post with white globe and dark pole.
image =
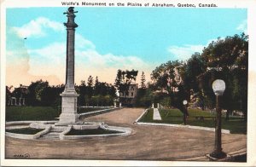
{"type": "Polygon", "coordinates": [[[215,124],[215,144],[214,151],[210,153],[212,158],[225,158],[227,154],[222,151],[221,147],[221,108],[219,107],[220,96],[223,95],[225,90],[224,80],[216,79],[212,83],[212,89],[216,95],[216,124],[215,124]]]}

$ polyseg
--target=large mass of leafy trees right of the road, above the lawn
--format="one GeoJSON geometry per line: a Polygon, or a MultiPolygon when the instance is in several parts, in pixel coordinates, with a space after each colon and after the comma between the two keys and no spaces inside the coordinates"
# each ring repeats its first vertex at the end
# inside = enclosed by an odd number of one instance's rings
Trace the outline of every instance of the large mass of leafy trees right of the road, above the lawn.
{"type": "Polygon", "coordinates": [[[228,111],[227,116],[233,110],[241,110],[246,115],[247,66],[248,37],[242,33],[212,41],[201,55],[195,53],[185,62],[176,60],[161,64],[154,69],[151,78],[154,90],[167,91],[171,106],[183,113],[182,101],[189,100],[190,95],[200,100],[202,109],[215,107],[212,82],[224,79],[226,89],[222,105],[228,111]]]}

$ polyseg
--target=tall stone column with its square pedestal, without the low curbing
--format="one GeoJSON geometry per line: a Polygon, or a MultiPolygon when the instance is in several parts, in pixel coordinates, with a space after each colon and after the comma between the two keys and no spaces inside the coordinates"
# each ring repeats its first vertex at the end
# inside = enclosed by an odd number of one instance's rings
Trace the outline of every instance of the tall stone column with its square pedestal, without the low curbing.
{"type": "Polygon", "coordinates": [[[75,124],[79,120],[77,113],[78,94],[74,89],[74,41],[75,28],[78,25],[74,22],[75,14],[73,7],[68,8],[67,23],[67,59],[66,59],[66,85],[61,94],[61,115],[60,120],[56,124],[75,124]]]}

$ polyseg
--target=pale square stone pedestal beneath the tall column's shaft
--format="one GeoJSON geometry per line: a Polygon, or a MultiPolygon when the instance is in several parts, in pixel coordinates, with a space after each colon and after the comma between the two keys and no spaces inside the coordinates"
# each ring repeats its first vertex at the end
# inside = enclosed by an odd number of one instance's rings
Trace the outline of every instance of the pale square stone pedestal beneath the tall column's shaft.
{"type": "Polygon", "coordinates": [[[56,125],[76,124],[79,120],[77,113],[78,94],[74,89],[65,89],[61,94],[61,115],[56,125]]]}

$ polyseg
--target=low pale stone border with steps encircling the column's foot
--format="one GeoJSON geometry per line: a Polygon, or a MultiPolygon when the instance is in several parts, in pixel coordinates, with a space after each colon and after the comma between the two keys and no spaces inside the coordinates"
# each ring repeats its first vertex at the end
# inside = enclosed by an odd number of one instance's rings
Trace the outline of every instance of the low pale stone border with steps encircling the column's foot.
{"type": "MultiPolygon", "coordinates": [[[[20,129],[20,122],[12,123],[8,126],[8,129],[20,129]]],[[[9,137],[27,139],[27,140],[75,140],[75,139],[86,139],[91,137],[108,137],[108,136],[119,136],[119,135],[130,135],[131,129],[124,127],[108,126],[103,122],[77,122],[75,124],[58,124],[56,121],[35,121],[30,124],[27,123],[26,127],[33,129],[40,129],[42,131],[34,135],[25,135],[6,132],[5,135],[9,137]],[[116,133],[113,134],[98,134],[98,135],[67,135],[71,130],[113,130],[116,133]]],[[[24,127],[22,127],[24,128],[24,127]]]]}

